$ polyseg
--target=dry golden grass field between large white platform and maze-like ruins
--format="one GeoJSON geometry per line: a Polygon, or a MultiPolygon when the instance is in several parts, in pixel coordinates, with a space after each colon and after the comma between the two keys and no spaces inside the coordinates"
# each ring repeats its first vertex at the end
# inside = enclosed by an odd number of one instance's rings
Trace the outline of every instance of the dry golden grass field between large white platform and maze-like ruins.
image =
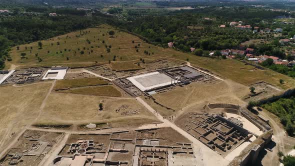
{"type": "MultiPolygon", "coordinates": [[[[218,80],[215,83],[191,83],[186,86],[177,86],[173,90],[156,93],[152,96],[162,105],[174,109],[197,110],[196,105],[204,106],[206,103],[234,103],[245,104],[242,97],[249,93],[249,88],[231,80],[218,80]]],[[[147,100],[148,102],[148,100],[147,100]]],[[[148,102],[150,103],[150,101],[148,102]]],[[[151,106],[163,116],[175,112],[160,108],[157,104],[151,106]]]]}

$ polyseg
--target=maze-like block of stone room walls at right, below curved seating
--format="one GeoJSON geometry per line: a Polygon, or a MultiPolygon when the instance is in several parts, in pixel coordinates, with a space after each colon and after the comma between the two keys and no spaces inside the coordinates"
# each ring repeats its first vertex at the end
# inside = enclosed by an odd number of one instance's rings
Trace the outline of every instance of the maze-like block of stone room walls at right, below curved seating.
{"type": "Polygon", "coordinates": [[[220,114],[187,113],[176,125],[223,156],[252,137],[241,125],[220,114]]]}

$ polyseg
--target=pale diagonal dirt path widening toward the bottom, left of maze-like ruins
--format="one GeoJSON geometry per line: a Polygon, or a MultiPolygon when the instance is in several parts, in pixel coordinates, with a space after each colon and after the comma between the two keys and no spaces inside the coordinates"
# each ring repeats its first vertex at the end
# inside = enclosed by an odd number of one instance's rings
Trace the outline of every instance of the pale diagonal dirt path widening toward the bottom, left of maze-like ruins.
{"type": "Polygon", "coordinates": [[[136,100],[140,102],[143,106],[145,106],[151,113],[153,113],[159,120],[163,122],[163,124],[173,128],[177,132],[179,132],[181,135],[186,137],[188,140],[192,142],[193,145],[193,151],[195,155],[199,157],[198,163],[196,165],[215,165],[218,163],[218,165],[227,165],[228,160],[217,154],[212,149],[208,148],[206,145],[204,145],[202,142],[197,140],[195,137],[190,135],[188,132],[184,131],[183,129],[176,126],[171,121],[164,119],[159,113],[157,113],[152,107],[150,107],[144,100],[142,100],[140,97],[136,97],[136,100]],[[202,155],[205,153],[205,155],[202,155]]]}

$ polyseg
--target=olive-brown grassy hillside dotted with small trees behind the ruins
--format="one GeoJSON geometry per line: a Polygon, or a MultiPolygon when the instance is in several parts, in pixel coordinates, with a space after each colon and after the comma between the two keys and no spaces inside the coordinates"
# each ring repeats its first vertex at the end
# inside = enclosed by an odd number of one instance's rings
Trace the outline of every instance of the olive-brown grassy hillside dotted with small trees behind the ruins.
{"type": "MultiPolygon", "coordinates": [[[[32,42],[25,45],[20,45],[20,50],[16,50],[16,47],[12,48],[11,56],[12,61],[7,62],[7,66],[9,64],[13,63],[15,65],[44,65],[46,63],[52,64],[60,64],[63,63],[63,65],[69,65],[69,66],[83,66],[83,65],[93,65],[95,64],[95,61],[99,62],[107,62],[108,60],[112,60],[113,56],[116,55],[116,61],[112,61],[116,69],[124,69],[127,65],[131,65],[135,68],[134,64],[128,64],[133,62],[126,62],[134,59],[139,58],[147,58],[153,56],[156,57],[168,57],[168,58],[175,58],[180,60],[186,60],[186,58],[189,59],[189,62],[192,65],[199,66],[205,69],[208,69],[222,77],[232,79],[234,81],[237,81],[239,83],[242,83],[244,85],[248,85],[251,83],[255,83],[258,81],[266,81],[270,84],[277,85],[283,89],[292,88],[295,87],[295,81],[293,78],[290,78],[286,75],[279,74],[277,72],[274,72],[269,69],[265,70],[252,70],[254,67],[250,65],[245,65],[244,63],[233,60],[233,59],[213,59],[208,57],[200,57],[195,56],[193,54],[189,53],[183,53],[180,51],[176,51],[174,49],[170,48],[162,48],[157,47],[148,43],[143,42],[138,37],[128,34],[126,32],[118,32],[115,30],[116,37],[109,37],[107,33],[108,30],[114,29],[111,26],[108,25],[101,25],[99,28],[88,28],[84,31],[88,31],[87,34],[82,35],[80,37],[76,37],[75,35],[79,35],[80,32],[71,32],[68,34],[64,34],[59,36],[59,42],[60,45],[56,45],[56,42],[58,41],[58,37],[54,37],[54,40],[44,40],[43,42],[43,48],[37,49],[37,42],[32,42]],[[89,32],[90,31],[90,32],[89,32]],[[102,36],[102,33],[105,35],[102,36]],[[70,36],[71,38],[67,38],[66,36],[70,36]],[[95,38],[93,37],[95,36],[95,38]],[[99,40],[97,40],[97,37],[99,40]],[[86,42],[86,39],[89,39],[91,41],[90,44],[86,42]],[[66,41],[64,43],[64,40],[66,41]],[[93,40],[95,40],[93,42],[93,40]],[[105,44],[111,45],[111,51],[109,53],[106,52],[106,48],[104,47],[104,44],[101,43],[102,40],[105,40],[105,44]],[[135,42],[132,43],[131,41],[134,40],[135,42]],[[50,43],[54,43],[52,46],[50,43]],[[136,52],[135,45],[140,43],[140,47],[138,48],[138,52],[136,52]],[[91,45],[93,48],[91,48],[91,45]],[[99,48],[97,47],[99,45],[99,48]],[[27,46],[27,50],[25,50],[25,46],[27,46]],[[29,53],[30,46],[33,46],[32,53],[29,53]],[[85,53],[80,54],[77,48],[80,48],[80,50],[85,47],[85,53]],[[63,49],[71,49],[71,51],[63,51],[63,49]],[[89,50],[87,50],[89,48],[89,50]],[[90,50],[93,50],[93,52],[88,54],[90,50]],[[50,53],[47,53],[47,50],[49,50],[50,53]],[[63,53],[57,53],[56,51],[62,50],[63,53]],[[148,52],[154,52],[154,54],[146,55],[144,54],[144,50],[147,50],[148,52]],[[74,55],[74,51],[76,51],[76,55],[74,55]],[[20,53],[26,52],[27,53],[27,59],[20,58],[20,53]],[[35,57],[35,53],[38,52],[38,56],[40,56],[43,61],[38,62],[37,57],[35,57]],[[103,57],[100,56],[100,54],[103,55],[103,57]],[[68,60],[66,60],[66,57],[69,57],[68,60]],[[117,61],[125,61],[124,63],[118,63],[117,61]],[[82,63],[84,62],[84,63],[82,63]],[[85,63],[88,62],[88,63],[85,63]],[[121,66],[121,67],[120,67],[121,66]],[[284,84],[279,83],[279,79],[283,79],[285,81],[284,84]]],[[[24,67],[22,66],[22,67],[24,67]]],[[[21,66],[20,66],[21,67],[21,66]]],[[[132,68],[133,68],[132,67],[132,68]]]]}

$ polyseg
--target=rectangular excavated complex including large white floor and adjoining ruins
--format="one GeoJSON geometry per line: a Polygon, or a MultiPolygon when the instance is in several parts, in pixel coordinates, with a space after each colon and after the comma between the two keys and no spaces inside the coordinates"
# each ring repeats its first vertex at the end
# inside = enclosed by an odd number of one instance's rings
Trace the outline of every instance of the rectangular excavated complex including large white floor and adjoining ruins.
{"type": "Polygon", "coordinates": [[[159,69],[153,72],[141,73],[129,77],[121,77],[114,83],[132,96],[144,93],[153,94],[159,90],[184,85],[194,81],[213,81],[215,78],[187,65],[159,69]]]}

